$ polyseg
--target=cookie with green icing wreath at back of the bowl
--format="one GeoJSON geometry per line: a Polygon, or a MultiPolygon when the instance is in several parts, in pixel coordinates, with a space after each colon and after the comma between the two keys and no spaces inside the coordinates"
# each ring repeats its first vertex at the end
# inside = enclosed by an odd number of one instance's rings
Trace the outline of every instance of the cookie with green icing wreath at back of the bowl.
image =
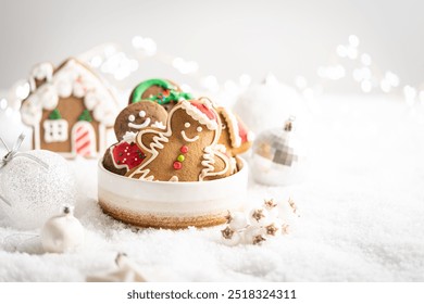
{"type": "Polygon", "coordinates": [[[162,105],[170,112],[180,100],[191,99],[190,93],[183,92],[173,81],[161,78],[148,79],[140,83],[129,97],[129,104],[141,100],[150,100],[162,105]]]}

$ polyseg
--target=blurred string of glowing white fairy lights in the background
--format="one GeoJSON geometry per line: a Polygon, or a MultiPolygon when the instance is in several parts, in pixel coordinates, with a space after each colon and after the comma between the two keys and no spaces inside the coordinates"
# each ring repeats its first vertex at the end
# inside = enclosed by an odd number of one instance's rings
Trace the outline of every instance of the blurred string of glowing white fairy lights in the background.
{"type": "MultiPolygon", "coordinates": [[[[107,43],[96,47],[78,56],[107,78],[114,79],[119,89],[124,89],[125,79],[137,73],[145,60],[153,60],[172,66],[179,74],[189,76],[192,84],[204,92],[221,93],[229,99],[237,98],[252,83],[252,77],[241,74],[238,79],[228,79],[224,83],[212,75],[204,75],[196,61],[186,60],[165,52],[161,52],[157,42],[149,37],[135,36],[132,39],[132,49],[125,52],[120,46],[107,43]]],[[[294,78],[294,87],[305,100],[314,100],[326,91],[326,84],[341,79],[351,79],[363,93],[379,92],[385,94],[403,96],[408,106],[416,103],[424,104],[424,89],[401,83],[400,77],[390,69],[382,71],[372,60],[372,55],[360,48],[360,39],[350,35],[346,43],[338,45],[331,56],[329,63],[316,68],[317,81],[309,84],[303,76],[294,78]]],[[[17,111],[22,100],[29,94],[27,80],[18,80],[4,96],[0,96],[0,114],[11,114],[17,111]]],[[[192,91],[192,87],[183,84],[182,89],[192,91]]]]}

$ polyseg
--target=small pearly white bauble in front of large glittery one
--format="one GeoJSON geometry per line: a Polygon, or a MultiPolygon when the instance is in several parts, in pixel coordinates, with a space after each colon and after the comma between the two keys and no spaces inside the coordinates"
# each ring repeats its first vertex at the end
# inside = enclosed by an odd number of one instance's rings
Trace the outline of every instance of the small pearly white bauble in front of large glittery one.
{"type": "Polygon", "coordinates": [[[64,253],[84,243],[84,227],[74,217],[73,207],[64,206],[62,214],[51,217],[41,230],[41,243],[46,252],[64,253]]]}

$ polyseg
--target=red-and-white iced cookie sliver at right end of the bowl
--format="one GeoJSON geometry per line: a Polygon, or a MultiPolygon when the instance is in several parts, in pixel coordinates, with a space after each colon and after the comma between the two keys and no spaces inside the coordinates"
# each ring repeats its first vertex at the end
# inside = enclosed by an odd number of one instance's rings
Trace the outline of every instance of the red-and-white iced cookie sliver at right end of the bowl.
{"type": "Polygon", "coordinates": [[[225,107],[216,109],[221,122],[222,132],[219,143],[224,144],[229,156],[244,153],[252,145],[252,134],[241,119],[225,107]]]}

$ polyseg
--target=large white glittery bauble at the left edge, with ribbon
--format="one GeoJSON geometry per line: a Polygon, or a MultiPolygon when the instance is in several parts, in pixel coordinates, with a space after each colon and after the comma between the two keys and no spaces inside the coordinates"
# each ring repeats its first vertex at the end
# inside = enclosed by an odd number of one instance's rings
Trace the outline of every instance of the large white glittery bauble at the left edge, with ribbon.
{"type": "Polygon", "coordinates": [[[16,155],[0,168],[0,193],[11,204],[0,200],[0,217],[18,229],[36,229],[57,214],[63,204],[75,204],[75,178],[61,155],[46,151],[25,152],[43,163],[16,155]]]}

